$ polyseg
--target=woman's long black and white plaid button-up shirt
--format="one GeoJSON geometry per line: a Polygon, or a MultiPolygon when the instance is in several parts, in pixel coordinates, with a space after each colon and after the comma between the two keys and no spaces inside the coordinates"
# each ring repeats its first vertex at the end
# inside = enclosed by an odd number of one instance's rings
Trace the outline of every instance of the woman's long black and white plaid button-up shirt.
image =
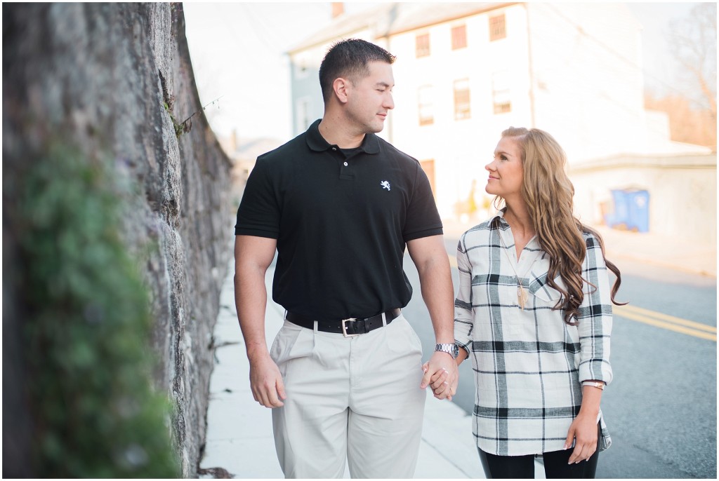
{"type": "MultiPolygon", "coordinates": [[[[582,381],[612,380],[607,268],[597,238],[584,238],[582,278],[597,289],[585,282],[578,326],[565,323],[561,309],[551,309],[560,294],[546,285],[549,256],[536,238],[524,248],[517,265],[514,238],[503,213],[459,240],[454,337],[472,358],[477,388],[472,431],[485,452],[517,456],[559,451],[582,404],[582,381]],[[523,310],[515,271],[528,291],[523,310]]],[[[561,279],[555,281],[563,286],[561,279]]],[[[599,421],[603,450],[611,439],[601,412],[599,421]]]]}

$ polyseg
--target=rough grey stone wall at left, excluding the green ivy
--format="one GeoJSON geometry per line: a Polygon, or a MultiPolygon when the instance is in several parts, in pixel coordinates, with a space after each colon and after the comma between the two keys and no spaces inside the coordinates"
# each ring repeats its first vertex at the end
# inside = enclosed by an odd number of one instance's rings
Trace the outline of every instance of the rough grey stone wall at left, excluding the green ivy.
{"type": "MultiPolygon", "coordinates": [[[[4,185],[58,139],[139,186],[122,200],[131,207],[122,233],[143,259],[156,383],[173,402],[182,474],[195,477],[230,255],[231,166],[201,108],[181,4],[3,4],[4,185]]],[[[14,206],[3,197],[5,219],[14,206]]],[[[6,227],[4,258],[13,255],[6,227]]],[[[22,406],[6,384],[22,380],[18,350],[5,350],[23,322],[6,317],[12,289],[22,286],[4,286],[4,442],[13,430],[22,446],[32,419],[6,416],[6,406],[22,406]]]]}

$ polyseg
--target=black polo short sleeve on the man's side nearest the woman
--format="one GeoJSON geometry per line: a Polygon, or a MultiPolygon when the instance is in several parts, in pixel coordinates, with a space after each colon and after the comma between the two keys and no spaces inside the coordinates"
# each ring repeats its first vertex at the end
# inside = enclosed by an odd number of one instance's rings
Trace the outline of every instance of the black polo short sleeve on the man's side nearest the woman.
{"type": "Polygon", "coordinates": [[[432,195],[429,179],[419,163],[416,165],[417,174],[414,191],[407,210],[405,227],[402,231],[405,242],[443,233],[442,222],[439,218],[439,212],[437,212],[437,206],[434,203],[434,195],[432,195]]]}

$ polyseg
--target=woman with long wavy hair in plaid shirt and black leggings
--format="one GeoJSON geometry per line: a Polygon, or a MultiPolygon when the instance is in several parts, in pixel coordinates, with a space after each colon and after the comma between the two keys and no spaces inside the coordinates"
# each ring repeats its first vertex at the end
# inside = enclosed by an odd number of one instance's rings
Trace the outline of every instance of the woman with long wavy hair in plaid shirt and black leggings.
{"type": "Polygon", "coordinates": [[[503,131],[485,190],[505,207],[457,248],[457,363],[472,358],[488,478],[531,478],[536,454],[548,478],[595,477],[611,442],[600,400],[621,278],[600,235],[572,215],[565,162],[546,132],[503,131]]]}

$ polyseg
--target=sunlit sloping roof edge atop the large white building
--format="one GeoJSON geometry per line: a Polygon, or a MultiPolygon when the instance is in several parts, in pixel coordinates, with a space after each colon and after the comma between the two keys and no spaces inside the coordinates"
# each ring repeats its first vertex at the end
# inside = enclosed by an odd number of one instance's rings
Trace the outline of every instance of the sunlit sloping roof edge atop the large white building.
{"type": "Polygon", "coordinates": [[[375,38],[388,37],[517,3],[519,2],[383,3],[357,14],[340,15],[326,27],[292,47],[288,50],[288,54],[292,55],[336,38],[347,37],[364,29],[370,29],[375,38]]]}

